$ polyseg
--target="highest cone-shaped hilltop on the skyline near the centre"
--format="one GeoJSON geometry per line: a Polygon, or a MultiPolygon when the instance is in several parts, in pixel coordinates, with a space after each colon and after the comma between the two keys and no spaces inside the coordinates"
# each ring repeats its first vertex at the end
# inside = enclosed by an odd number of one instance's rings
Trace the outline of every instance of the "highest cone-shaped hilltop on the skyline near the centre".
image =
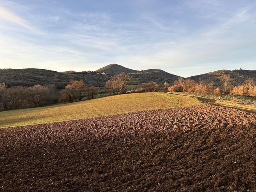
{"type": "Polygon", "coordinates": [[[106,74],[120,74],[122,72],[124,72],[124,73],[137,73],[139,71],[129,69],[129,68],[123,67],[123,66],[118,65],[118,64],[110,64],[110,65],[107,65],[105,67],[102,67],[102,68],[96,70],[96,72],[98,72],[98,73],[103,73],[104,72],[106,74]]]}

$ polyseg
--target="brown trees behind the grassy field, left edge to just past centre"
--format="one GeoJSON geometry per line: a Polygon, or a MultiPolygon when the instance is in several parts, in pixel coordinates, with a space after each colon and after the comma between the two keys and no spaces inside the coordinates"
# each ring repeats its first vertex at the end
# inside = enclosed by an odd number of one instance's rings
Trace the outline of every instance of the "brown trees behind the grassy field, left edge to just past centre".
{"type": "MultiPolygon", "coordinates": [[[[93,99],[101,92],[108,95],[124,94],[128,92],[126,86],[130,84],[132,78],[121,73],[112,76],[103,90],[93,85],[84,84],[82,80],[74,80],[61,91],[54,85],[42,86],[12,86],[7,87],[5,83],[0,83],[0,111],[24,109],[32,107],[48,106],[54,103],[77,102],[93,99]]],[[[157,92],[159,86],[156,82],[143,83],[137,86],[134,92],[157,92]]]]}

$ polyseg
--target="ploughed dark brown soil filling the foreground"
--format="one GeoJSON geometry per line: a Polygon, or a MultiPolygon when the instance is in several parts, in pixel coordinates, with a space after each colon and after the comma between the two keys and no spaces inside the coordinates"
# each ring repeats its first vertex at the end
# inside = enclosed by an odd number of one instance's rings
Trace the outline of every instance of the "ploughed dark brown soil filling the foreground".
{"type": "Polygon", "coordinates": [[[0,130],[0,191],[256,191],[256,114],[203,104],[0,130]]]}

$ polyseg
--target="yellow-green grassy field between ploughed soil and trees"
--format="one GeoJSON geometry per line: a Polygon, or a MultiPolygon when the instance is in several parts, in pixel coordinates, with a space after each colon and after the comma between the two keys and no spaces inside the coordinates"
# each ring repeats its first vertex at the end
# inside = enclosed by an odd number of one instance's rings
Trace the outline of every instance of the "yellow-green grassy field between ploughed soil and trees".
{"type": "Polygon", "coordinates": [[[56,106],[0,112],[0,128],[198,104],[200,102],[194,97],[163,92],[115,95],[56,106]]]}

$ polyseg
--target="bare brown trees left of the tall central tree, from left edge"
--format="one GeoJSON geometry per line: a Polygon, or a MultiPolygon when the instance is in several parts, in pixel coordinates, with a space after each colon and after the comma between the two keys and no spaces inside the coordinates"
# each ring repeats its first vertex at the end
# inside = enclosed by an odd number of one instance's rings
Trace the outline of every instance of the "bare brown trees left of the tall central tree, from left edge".
{"type": "Polygon", "coordinates": [[[58,102],[76,102],[94,98],[98,88],[72,81],[61,92],[55,86],[12,86],[0,83],[0,111],[48,106],[58,102]]]}

